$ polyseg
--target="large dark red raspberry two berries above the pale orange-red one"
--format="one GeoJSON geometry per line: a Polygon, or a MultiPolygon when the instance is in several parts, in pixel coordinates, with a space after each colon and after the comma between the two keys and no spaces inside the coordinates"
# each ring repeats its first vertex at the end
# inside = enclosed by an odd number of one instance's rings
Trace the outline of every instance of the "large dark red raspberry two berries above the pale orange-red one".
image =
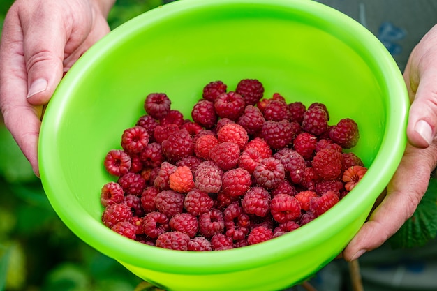
{"type": "Polygon", "coordinates": [[[179,161],[193,154],[193,139],[186,130],[179,130],[161,144],[163,153],[169,161],[179,161]]]}

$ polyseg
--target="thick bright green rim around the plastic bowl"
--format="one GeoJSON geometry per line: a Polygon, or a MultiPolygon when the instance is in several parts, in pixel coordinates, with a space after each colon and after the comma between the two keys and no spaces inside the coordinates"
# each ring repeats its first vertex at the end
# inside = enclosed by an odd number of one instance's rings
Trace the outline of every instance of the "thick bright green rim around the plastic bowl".
{"type": "MultiPolygon", "coordinates": [[[[55,94],[47,106],[45,112],[45,118],[43,119],[40,140],[38,147],[38,158],[40,163],[40,177],[45,188],[46,195],[52,204],[52,207],[57,212],[62,221],[70,228],[77,237],[80,237],[82,241],[96,248],[101,253],[110,256],[120,262],[126,264],[132,264],[145,269],[154,269],[156,271],[172,272],[175,274],[212,274],[216,272],[228,273],[231,271],[239,271],[247,269],[248,267],[260,267],[265,264],[271,264],[277,262],[283,258],[283,256],[290,256],[295,253],[294,246],[299,246],[299,251],[309,250],[316,245],[316,231],[318,230],[318,236],[332,235],[329,234],[331,227],[341,229],[346,227],[348,222],[343,220],[338,223],[334,219],[336,215],[333,211],[328,211],[323,214],[323,227],[321,221],[313,221],[308,225],[304,225],[290,234],[285,234],[281,237],[277,237],[267,243],[257,244],[253,246],[246,246],[244,248],[237,248],[221,252],[182,252],[172,251],[162,248],[156,248],[154,246],[145,246],[131,239],[121,237],[119,234],[114,233],[112,230],[104,227],[100,222],[92,218],[87,211],[81,207],[80,203],[76,199],[74,193],[68,193],[65,195],[65,189],[61,188],[65,181],[65,177],[61,177],[56,183],[50,181],[50,177],[57,173],[57,169],[60,169],[62,165],[56,164],[56,157],[51,156],[53,153],[53,147],[50,146],[50,140],[56,137],[56,126],[53,124],[57,120],[62,118],[62,107],[68,98],[68,92],[71,87],[80,82],[80,71],[87,70],[93,61],[101,59],[105,54],[108,54],[113,44],[122,41],[126,38],[126,35],[133,33],[138,27],[144,27],[147,25],[158,25],[160,21],[166,17],[172,17],[172,15],[181,15],[184,11],[193,9],[204,9],[207,7],[221,6],[221,8],[228,6],[232,8],[235,5],[250,4],[250,5],[263,5],[280,7],[292,10],[301,10],[304,13],[311,13],[314,17],[320,19],[335,19],[336,26],[343,27],[344,33],[348,33],[355,38],[361,38],[364,44],[363,50],[369,51],[375,59],[380,62],[380,66],[384,68],[381,73],[390,81],[390,84],[396,84],[390,88],[387,87],[387,91],[390,92],[390,104],[396,105],[396,114],[387,114],[387,129],[385,137],[381,142],[380,150],[373,161],[373,164],[369,168],[364,179],[372,181],[385,180],[388,181],[394,174],[394,170],[388,164],[399,163],[403,154],[403,149],[406,144],[405,128],[406,118],[399,120],[399,116],[406,117],[408,101],[403,79],[397,64],[387,52],[385,47],[379,40],[362,27],[361,24],[355,22],[347,15],[329,8],[316,1],[302,1],[302,0],[184,0],[176,1],[173,3],[165,4],[158,8],[139,15],[128,22],[121,24],[111,31],[107,36],[98,41],[93,47],[91,47],[71,68],[72,74],[67,74],[65,79],[61,81],[59,87],[55,91],[55,94]],[[371,47],[371,49],[370,49],[371,47]],[[397,99],[394,100],[394,96],[397,99]],[[405,100],[403,100],[404,96],[405,100]],[[61,100],[64,99],[64,100],[61,100]],[[50,106],[52,105],[52,106],[50,106]],[[57,107],[57,110],[52,109],[57,107]],[[49,124],[50,123],[50,124],[49,124]],[[387,142],[396,140],[395,147],[388,146],[387,142]],[[383,156],[384,158],[377,158],[383,156]],[[390,161],[390,163],[387,163],[390,161]],[[54,164],[54,165],[53,165],[54,164]],[[374,170],[373,170],[374,169],[374,170]],[[376,170],[378,169],[378,170],[376,170]],[[63,181],[64,180],[64,181],[63,181]],[[58,193],[58,194],[57,194],[58,193]],[[59,195],[59,193],[64,193],[59,195]],[[61,197],[59,197],[61,196],[61,197]],[[68,209],[74,208],[75,214],[71,214],[68,209]],[[82,216],[77,216],[82,214],[82,216]],[[335,223],[334,223],[335,221],[335,223]],[[335,224],[335,225],[334,225],[335,224]],[[82,227],[87,225],[86,229],[82,227]],[[320,230],[320,228],[322,230],[320,230]],[[305,235],[300,235],[301,232],[305,232],[305,235]],[[99,236],[95,234],[98,233],[99,236]],[[311,237],[313,236],[313,237],[311,237]],[[262,256],[259,254],[263,253],[262,256]],[[238,255],[237,255],[238,254],[238,255]],[[214,262],[214,264],[206,264],[205,262],[214,262]]],[[[363,181],[364,181],[363,179],[363,181]]],[[[378,183],[366,183],[366,189],[364,189],[364,182],[358,184],[355,187],[355,191],[377,191],[381,193],[385,186],[381,186],[378,183]]],[[[346,196],[342,203],[350,203],[350,199],[346,196]],[[349,202],[348,202],[349,201],[349,202]]],[[[362,195],[360,197],[354,197],[355,203],[369,203],[369,200],[374,202],[376,197],[370,195],[362,195]]],[[[336,206],[334,206],[336,207],[336,206]]],[[[341,214],[343,217],[350,216],[353,219],[358,217],[358,214],[354,213],[353,209],[345,209],[341,214]]],[[[334,257],[332,258],[334,259],[334,257]]]]}

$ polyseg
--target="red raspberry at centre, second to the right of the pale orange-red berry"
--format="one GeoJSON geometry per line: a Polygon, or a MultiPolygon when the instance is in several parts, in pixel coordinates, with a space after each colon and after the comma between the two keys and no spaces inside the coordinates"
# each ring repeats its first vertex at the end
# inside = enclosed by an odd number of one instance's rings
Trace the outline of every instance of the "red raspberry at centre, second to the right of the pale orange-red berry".
{"type": "Polygon", "coordinates": [[[242,196],[249,190],[251,184],[251,174],[242,167],[237,167],[223,174],[221,186],[225,194],[230,196],[242,196]]]}

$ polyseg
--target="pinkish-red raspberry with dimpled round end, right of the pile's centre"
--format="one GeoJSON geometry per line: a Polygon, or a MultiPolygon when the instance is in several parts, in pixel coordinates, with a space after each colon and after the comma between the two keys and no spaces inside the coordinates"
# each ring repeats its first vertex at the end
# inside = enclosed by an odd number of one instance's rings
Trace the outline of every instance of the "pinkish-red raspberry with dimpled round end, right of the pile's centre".
{"type": "Polygon", "coordinates": [[[253,171],[256,183],[266,189],[273,189],[281,184],[285,176],[286,170],[284,170],[281,161],[273,157],[262,159],[260,165],[255,167],[255,171],[253,171]]]}

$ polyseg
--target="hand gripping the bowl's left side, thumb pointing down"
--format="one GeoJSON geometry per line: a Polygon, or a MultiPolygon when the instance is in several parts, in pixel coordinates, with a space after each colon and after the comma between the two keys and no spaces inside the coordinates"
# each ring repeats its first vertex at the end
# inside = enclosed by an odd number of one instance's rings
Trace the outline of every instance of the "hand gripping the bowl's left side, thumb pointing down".
{"type": "Polygon", "coordinates": [[[110,31],[115,0],[17,0],[3,22],[0,108],[36,176],[43,107],[77,59],[110,31]]]}

